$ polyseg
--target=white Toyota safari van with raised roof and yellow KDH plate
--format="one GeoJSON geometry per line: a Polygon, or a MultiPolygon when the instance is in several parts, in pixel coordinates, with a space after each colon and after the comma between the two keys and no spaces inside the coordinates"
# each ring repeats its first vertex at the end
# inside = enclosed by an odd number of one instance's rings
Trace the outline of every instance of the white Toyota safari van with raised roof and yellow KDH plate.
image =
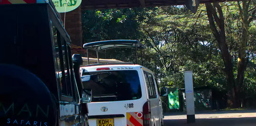
{"type": "MultiPolygon", "coordinates": [[[[135,40],[110,40],[84,44],[94,50],[145,48],[135,40]]],[[[136,53],[137,59],[137,53],[136,53]]],[[[99,60],[98,60],[99,62],[99,60]]],[[[89,59],[88,59],[89,63],[89,59]]],[[[143,62],[142,62],[143,64],[143,62]]],[[[90,126],[162,126],[160,96],[167,94],[152,71],[129,62],[89,64],[80,67],[84,88],[92,89],[88,104],[90,126]]]]}

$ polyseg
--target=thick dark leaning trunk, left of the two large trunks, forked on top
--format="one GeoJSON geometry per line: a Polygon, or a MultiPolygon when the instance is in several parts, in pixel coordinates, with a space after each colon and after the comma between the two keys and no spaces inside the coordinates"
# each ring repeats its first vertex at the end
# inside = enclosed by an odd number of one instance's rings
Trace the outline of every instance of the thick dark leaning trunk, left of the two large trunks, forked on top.
{"type": "Polygon", "coordinates": [[[206,3],[205,5],[210,28],[212,29],[213,35],[219,44],[222,59],[225,65],[224,72],[227,80],[228,105],[229,107],[234,108],[237,106],[236,85],[234,82],[232,57],[226,43],[222,8],[218,3],[213,3],[213,5],[211,3],[206,3]],[[219,16],[215,10],[215,7],[218,10],[219,16]],[[216,22],[218,29],[214,22],[216,22]]]}

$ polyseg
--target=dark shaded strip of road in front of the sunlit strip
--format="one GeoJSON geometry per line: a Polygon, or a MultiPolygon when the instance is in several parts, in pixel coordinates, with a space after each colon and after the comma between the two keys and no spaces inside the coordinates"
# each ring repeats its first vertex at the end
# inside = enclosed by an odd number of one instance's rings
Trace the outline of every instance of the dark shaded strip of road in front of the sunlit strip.
{"type": "Polygon", "coordinates": [[[164,125],[180,126],[256,126],[256,117],[244,118],[207,118],[196,119],[195,123],[186,123],[186,119],[165,119],[164,125]]]}

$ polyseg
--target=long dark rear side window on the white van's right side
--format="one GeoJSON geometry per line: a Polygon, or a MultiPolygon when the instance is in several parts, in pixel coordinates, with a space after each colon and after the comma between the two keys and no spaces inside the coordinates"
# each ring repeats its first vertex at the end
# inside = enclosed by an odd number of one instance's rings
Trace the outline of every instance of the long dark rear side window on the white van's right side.
{"type": "Polygon", "coordinates": [[[153,80],[153,75],[144,71],[145,79],[146,79],[146,85],[148,89],[148,97],[151,98],[156,98],[156,88],[155,88],[155,83],[153,80]]]}

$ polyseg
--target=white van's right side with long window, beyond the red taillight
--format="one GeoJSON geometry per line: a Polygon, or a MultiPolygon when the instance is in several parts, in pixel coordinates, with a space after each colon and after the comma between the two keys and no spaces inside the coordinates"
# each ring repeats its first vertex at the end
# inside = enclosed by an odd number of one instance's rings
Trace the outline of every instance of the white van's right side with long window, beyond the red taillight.
{"type": "Polygon", "coordinates": [[[145,82],[148,89],[148,97],[150,101],[151,108],[151,125],[160,126],[160,111],[159,111],[159,96],[156,91],[156,84],[154,81],[154,76],[151,73],[144,71],[145,82]]]}

